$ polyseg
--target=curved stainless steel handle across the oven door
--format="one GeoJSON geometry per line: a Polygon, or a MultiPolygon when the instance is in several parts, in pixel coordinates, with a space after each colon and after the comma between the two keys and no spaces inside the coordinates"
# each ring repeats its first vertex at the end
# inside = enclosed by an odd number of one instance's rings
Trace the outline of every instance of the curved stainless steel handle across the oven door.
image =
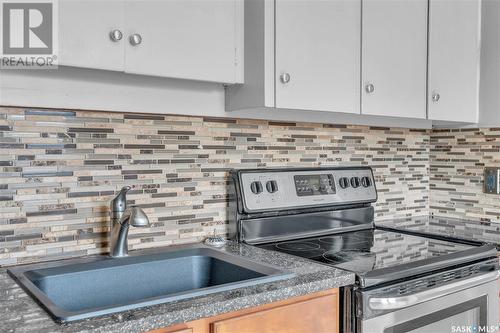
{"type": "Polygon", "coordinates": [[[448,295],[463,289],[467,289],[485,282],[498,279],[500,271],[475,276],[467,280],[457,281],[444,286],[427,289],[415,294],[399,297],[372,297],[368,301],[372,310],[396,310],[406,308],[418,303],[430,301],[432,299],[448,295]]]}

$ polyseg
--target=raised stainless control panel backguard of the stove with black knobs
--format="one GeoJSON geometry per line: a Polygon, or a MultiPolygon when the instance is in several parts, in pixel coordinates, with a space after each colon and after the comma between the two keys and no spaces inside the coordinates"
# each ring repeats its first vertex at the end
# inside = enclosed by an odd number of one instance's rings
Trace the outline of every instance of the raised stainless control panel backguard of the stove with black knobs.
{"type": "Polygon", "coordinates": [[[370,167],[231,171],[229,236],[262,244],[373,227],[370,167]]]}

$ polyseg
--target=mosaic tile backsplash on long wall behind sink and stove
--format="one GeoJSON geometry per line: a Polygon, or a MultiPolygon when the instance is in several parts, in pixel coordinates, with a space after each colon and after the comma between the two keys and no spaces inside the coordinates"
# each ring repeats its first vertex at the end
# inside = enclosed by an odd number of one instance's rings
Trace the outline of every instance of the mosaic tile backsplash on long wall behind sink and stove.
{"type": "Polygon", "coordinates": [[[371,165],[379,218],[425,215],[429,148],[427,130],[0,108],[0,265],[108,252],[124,185],[152,222],[132,249],[225,234],[230,168],[371,165]]]}

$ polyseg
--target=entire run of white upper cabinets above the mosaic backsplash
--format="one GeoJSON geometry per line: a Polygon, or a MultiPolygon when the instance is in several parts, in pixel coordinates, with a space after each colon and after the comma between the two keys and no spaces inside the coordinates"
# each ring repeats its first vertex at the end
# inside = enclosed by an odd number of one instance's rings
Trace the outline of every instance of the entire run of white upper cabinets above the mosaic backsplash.
{"type": "Polygon", "coordinates": [[[59,0],[59,22],[60,65],[227,84],[243,116],[478,122],[481,0],[59,0]]]}

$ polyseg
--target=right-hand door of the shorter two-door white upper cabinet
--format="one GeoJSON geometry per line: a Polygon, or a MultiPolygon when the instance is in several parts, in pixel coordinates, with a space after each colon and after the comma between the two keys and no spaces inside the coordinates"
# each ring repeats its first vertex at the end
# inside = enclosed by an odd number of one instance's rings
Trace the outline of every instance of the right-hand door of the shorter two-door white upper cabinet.
{"type": "MultiPolygon", "coordinates": [[[[125,71],[234,83],[239,0],[126,0],[125,71]]],[[[241,7],[241,8],[239,8],[241,7]]]]}

